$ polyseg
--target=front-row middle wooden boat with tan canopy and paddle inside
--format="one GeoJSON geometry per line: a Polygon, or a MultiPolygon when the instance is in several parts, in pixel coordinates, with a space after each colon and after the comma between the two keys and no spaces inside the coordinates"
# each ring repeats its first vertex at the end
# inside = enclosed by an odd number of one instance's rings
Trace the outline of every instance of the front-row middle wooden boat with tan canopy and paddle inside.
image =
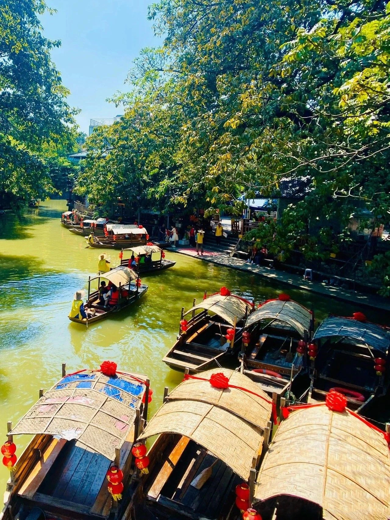
{"type": "Polygon", "coordinates": [[[141,477],[129,504],[129,518],[241,519],[235,488],[244,481],[253,493],[272,427],[272,405],[246,376],[218,372],[233,387],[216,388],[210,383],[212,371],[198,373],[201,380],[188,379],[165,395],[139,436],[144,442],[159,435],[148,453],[149,474],[141,477]],[[194,481],[200,479],[203,485],[197,489],[194,481]]]}

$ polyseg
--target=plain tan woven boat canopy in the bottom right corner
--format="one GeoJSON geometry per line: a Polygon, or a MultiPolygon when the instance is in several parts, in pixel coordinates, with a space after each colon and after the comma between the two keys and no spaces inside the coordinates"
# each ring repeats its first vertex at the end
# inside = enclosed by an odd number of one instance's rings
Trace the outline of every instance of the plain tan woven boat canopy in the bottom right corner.
{"type": "Polygon", "coordinates": [[[258,474],[254,501],[293,496],[325,520],[385,520],[389,449],[381,433],[326,406],[294,411],[278,428],[258,474]]]}

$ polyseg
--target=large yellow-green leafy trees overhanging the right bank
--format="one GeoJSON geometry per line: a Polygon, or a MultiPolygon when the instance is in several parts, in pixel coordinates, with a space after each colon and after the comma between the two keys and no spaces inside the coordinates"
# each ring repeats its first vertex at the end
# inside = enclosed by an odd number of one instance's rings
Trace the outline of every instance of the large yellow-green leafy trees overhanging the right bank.
{"type": "Polygon", "coordinates": [[[78,189],[90,202],[240,215],[243,199],[308,176],[274,230],[279,252],[336,250],[357,210],[389,224],[385,2],[162,0],[149,17],[163,45],[141,51],[131,92],[112,99],[121,121],[87,141],[78,189]]]}

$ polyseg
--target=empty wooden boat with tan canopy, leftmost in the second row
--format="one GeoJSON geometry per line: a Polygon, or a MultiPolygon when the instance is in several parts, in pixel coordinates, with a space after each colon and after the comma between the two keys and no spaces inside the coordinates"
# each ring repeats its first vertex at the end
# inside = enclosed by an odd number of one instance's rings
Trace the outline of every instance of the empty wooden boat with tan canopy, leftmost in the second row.
{"type": "Polygon", "coordinates": [[[215,367],[223,357],[237,354],[245,319],[252,309],[252,302],[230,294],[226,287],[209,297],[204,293],[198,305],[194,299],[186,313],[184,307],[181,309],[179,335],[164,356],[164,363],[175,370],[189,368],[193,373],[215,367]],[[184,318],[189,314],[187,321],[184,318]],[[228,329],[234,331],[230,340],[226,339],[228,329]]]}

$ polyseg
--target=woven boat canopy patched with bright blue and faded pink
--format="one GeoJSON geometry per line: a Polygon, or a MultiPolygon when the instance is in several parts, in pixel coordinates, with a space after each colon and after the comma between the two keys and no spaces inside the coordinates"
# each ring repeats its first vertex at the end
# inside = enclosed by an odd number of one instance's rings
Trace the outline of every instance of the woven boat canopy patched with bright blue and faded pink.
{"type": "Polygon", "coordinates": [[[115,458],[134,425],[145,394],[146,375],[100,372],[64,376],[24,415],[10,435],[45,434],[83,444],[109,460],[115,458]],[[137,379],[134,379],[135,378],[137,379]]]}

